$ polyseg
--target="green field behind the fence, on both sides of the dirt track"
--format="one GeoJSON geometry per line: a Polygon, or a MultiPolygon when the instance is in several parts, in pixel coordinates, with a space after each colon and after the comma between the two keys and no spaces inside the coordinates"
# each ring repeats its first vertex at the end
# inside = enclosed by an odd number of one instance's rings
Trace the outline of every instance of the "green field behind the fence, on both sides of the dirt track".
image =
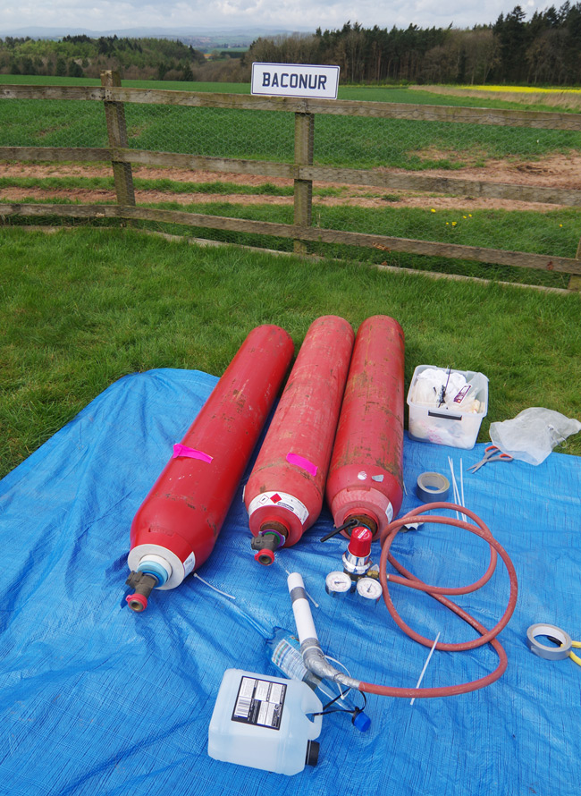
{"type": "MultiPolygon", "coordinates": [[[[9,82],[10,76],[0,76],[9,82]]],[[[16,79],[13,79],[16,81],[16,79]]],[[[46,78],[21,77],[18,82],[42,84],[46,78]]],[[[72,80],[53,78],[55,84],[91,83],[97,80],[72,80]]],[[[167,83],[163,81],[133,82],[148,88],[195,89],[231,92],[248,91],[245,84],[222,83],[167,83]]],[[[465,97],[437,97],[433,93],[405,88],[349,88],[341,89],[341,97],[373,99],[380,101],[418,103],[434,102],[455,105],[476,105],[481,99],[465,97]]],[[[487,103],[489,99],[485,100],[487,103]]],[[[490,100],[491,106],[516,106],[490,100]]],[[[242,157],[291,162],[294,144],[294,114],[256,111],[233,111],[215,108],[184,108],[126,104],[125,113],[131,148],[144,148],[182,152],[208,157],[242,157]]],[[[101,103],[78,101],[6,100],[0,102],[0,146],[56,146],[56,147],[106,147],[105,114],[101,103]]],[[[463,123],[428,123],[374,118],[349,118],[319,114],[315,123],[315,162],[370,168],[378,166],[399,167],[407,170],[424,170],[440,167],[457,170],[465,165],[483,167],[487,161],[503,159],[511,163],[535,161],[555,153],[581,151],[581,133],[524,128],[494,127],[463,123]]],[[[57,171],[55,172],[57,174],[57,171]]],[[[262,186],[237,186],[232,182],[191,183],[168,179],[136,180],[140,191],[165,191],[164,202],[157,207],[189,209],[210,215],[235,216],[248,219],[292,222],[292,210],[267,204],[240,205],[227,200],[228,196],[263,194],[265,196],[290,196],[291,186],[266,184],[262,186]],[[172,203],[184,193],[204,192],[222,194],[223,202],[186,204],[172,203]]],[[[112,181],[105,177],[50,179],[4,178],[0,189],[20,186],[23,189],[50,190],[107,188],[112,181]]],[[[315,197],[341,197],[345,189],[316,186],[315,197]]],[[[374,191],[368,191],[373,196],[374,191]]],[[[469,211],[469,201],[464,209],[433,212],[431,199],[425,196],[423,207],[390,207],[396,197],[384,195],[382,208],[368,207],[314,207],[313,224],[326,229],[351,232],[394,235],[419,240],[454,242],[484,248],[530,251],[547,255],[573,258],[581,237],[581,216],[575,209],[554,209],[537,213],[517,210],[469,211]]],[[[26,199],[24,199],[26,200],[26,199]]],[[[34,201],[35,199],[31,199],[34,201]]],[[[66,201],[66,199],[57,199],[66,201]]],[[[73,199],[82,200],[82,199],[73,199]]],[[[38,201],[38,199],[36,199],[38,201]]],[[[140,204],[151,205],[147,198],[140,204]]],[[[165,227],[168,229],[168,227],[165,227]]],[[[191,229],[171,228],[172,232],[191,234],[191,229]]],[[[268,248],[291,248],[291,241],[274,241],[272,238],[247,234],[236,239],[232,234],[199,232],[201,236],[239,241],[268,248]]],[[[522,280],[532,284],[564,287],[568,277],[554,273],[531,272],[520,269],[482,267],[469,263],[438,261],[377,250],[347,250],[344,247],[312,246],[317,254],[354,257],[389,265],[445,270],[465,275],[484,275],[506,281],[522,280]]]]}

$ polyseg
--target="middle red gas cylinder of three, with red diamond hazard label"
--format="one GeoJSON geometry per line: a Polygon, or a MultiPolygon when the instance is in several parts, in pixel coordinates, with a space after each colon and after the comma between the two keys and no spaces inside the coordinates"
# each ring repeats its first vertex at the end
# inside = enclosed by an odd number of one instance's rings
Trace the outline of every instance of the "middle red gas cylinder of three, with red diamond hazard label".
{"type": "Polygon", "coordinates": [[[259,563],[273,563],[321,511],[354,337],[333,315],[307,331],[244,490],[259,563]]]}

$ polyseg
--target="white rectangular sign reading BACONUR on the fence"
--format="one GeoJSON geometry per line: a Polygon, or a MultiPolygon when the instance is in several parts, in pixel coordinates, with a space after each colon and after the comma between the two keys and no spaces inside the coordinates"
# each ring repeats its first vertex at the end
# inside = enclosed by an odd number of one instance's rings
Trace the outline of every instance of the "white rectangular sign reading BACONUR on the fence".
{"type": "Polygon", "coordinates": [[[252,64],[252,94],[337,99],[338,66],[252,64]]]}

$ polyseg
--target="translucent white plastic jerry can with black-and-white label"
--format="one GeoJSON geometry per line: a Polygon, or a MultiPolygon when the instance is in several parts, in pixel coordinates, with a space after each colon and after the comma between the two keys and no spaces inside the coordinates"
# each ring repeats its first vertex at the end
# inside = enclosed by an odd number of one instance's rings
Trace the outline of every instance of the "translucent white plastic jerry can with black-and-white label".
{"type": "Polygon", "coordinates": [[[208,730],[211,758],[275,774],[316,766],[321,700],[305,682],[227,669],[208,730]]]}

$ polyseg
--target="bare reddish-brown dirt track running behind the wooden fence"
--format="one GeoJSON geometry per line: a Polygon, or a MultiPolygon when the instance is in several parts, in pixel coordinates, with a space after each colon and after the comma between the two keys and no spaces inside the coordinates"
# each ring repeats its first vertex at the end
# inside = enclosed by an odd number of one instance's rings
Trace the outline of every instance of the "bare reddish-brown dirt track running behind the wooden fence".
{"type": "MultiPolygon", "coordinates": [[[[433,156],[434,153],[429,153],[433,156]]],[[[383,171],[383,170],[382,170],[383,171]]],[[[392,174],[405,174],[401,170],[391,170],[392,174]]],[[[454,171],[433,169],[421,172],[425,176],[452,177],[457,179],[504,182],[512,185],[529,187],[563,188],[581,191],[581,153],[570,156],[553,155],[535,162],[498,160],[489,161],[485,167],[463,168],[454,171]]],[[[108,165],[60,165],[60,164],[13,164],[0,163],[0,177],[110,177],[111,167],[108,165]]],[[[238,205],[291,205],[292,197],[268,196],[267,194],[248,195],[240,193],[223,194],[196,191],[197,183],[231,182],[234,185],[259,186],[265,183],[276,186],[291,186],[292,181],[281,177],[262,177],[247,174],[218,174],[216,172],[189,171],[184,169],[162,169],[153,166],[133,168],[136,179],[172,180],[173,182],[190,183],[191,191],[173,193],[172,191],[136,191],[138,204],[156,202],[177,202],[183,206],[196,203],[222,202],[238,205]]],[[[314,196],[313,204],[320,207],[358,206],[358,207],[430,207],[434,209],[513,209],[548,211],[555,205],[530,202],[511,201],[509,199],[475,199],[467,197],[434,196],[420,191],[383,190],[370,186],[353,186],[332,183],[315,183],[315,187],[333,187],[340,191],[338,196],[314,196]]],[[[114,201],[114,191],[74,188],[50,189],[38,188],[4,188],[0,197],[8,201],[22,199],[71,199],[83,203],[114,201]]]]}

